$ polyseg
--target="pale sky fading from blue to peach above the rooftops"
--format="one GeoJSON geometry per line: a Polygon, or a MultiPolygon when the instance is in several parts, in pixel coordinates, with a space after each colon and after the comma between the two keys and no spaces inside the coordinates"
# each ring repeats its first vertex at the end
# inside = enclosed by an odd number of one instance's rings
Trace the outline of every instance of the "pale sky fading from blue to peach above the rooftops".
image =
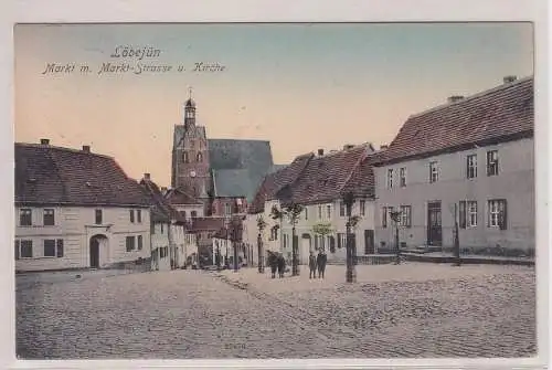
{"type": "Polygon", "coordinates": [[[389,144],[406,118],[533,73],[530,23],[18,25],[15,141],[114,156],[170,183],[172,130],[193,86],[210,138],[269,140],[276,163],[344,144],[389,144]],[[117,45],[160,50],[166,73],[102,74],[117,45]],[[194,73],[197,62],[223,72],[194,73]],[[49,63],[76,63],[45,74],[49,63]],[[82,74],[87,64],[92,72],[82,74]],[[187,71],[179,73],[179,65],[187,71]]]}

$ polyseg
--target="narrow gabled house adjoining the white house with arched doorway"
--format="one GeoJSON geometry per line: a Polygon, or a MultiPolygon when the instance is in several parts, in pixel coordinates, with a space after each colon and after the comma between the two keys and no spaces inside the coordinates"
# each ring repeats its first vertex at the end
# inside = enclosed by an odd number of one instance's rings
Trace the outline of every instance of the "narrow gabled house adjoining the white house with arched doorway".
{"type": "Polygon", "coordinates": [[[145,173],[140,186],[151,197],[151,267],[174,269],[193,264],[198,254],[197,237],[189,231],[184,213],[174,209],[162,191],[145,173]]]}

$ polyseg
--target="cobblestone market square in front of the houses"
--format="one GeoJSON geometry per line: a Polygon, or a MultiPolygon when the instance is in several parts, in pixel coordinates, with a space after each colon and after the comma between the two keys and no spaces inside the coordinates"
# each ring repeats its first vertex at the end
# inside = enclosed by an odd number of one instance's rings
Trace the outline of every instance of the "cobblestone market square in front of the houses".
{"type": "MultiPolygon", "coordinates": [[[[23,359],[535,355],[534,269],[344,266],[325,281],[254,269],[86,275],[17,290],[23,359]]],[[[70,276],[70,275],[67,275],[70,276]]]]}

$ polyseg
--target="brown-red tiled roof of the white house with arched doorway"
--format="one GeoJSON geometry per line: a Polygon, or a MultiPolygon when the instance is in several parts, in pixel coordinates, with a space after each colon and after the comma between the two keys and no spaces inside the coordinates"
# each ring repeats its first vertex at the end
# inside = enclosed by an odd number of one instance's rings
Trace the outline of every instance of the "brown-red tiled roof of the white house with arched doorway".
{"type": "Polygon", "coordinates": [[[151,200],[112,157],[17,142],[15,203],[146,208],[151,200]]]}

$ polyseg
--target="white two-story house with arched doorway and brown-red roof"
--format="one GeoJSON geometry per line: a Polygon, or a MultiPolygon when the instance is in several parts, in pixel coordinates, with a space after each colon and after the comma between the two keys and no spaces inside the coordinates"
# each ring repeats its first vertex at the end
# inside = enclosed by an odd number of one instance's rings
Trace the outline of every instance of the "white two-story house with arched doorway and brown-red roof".
{"type": "Polygon", "coordinates": [[[150,257],[150,199],[114,158],[15,144],[17,271],[107,267],[150,257]]]}

